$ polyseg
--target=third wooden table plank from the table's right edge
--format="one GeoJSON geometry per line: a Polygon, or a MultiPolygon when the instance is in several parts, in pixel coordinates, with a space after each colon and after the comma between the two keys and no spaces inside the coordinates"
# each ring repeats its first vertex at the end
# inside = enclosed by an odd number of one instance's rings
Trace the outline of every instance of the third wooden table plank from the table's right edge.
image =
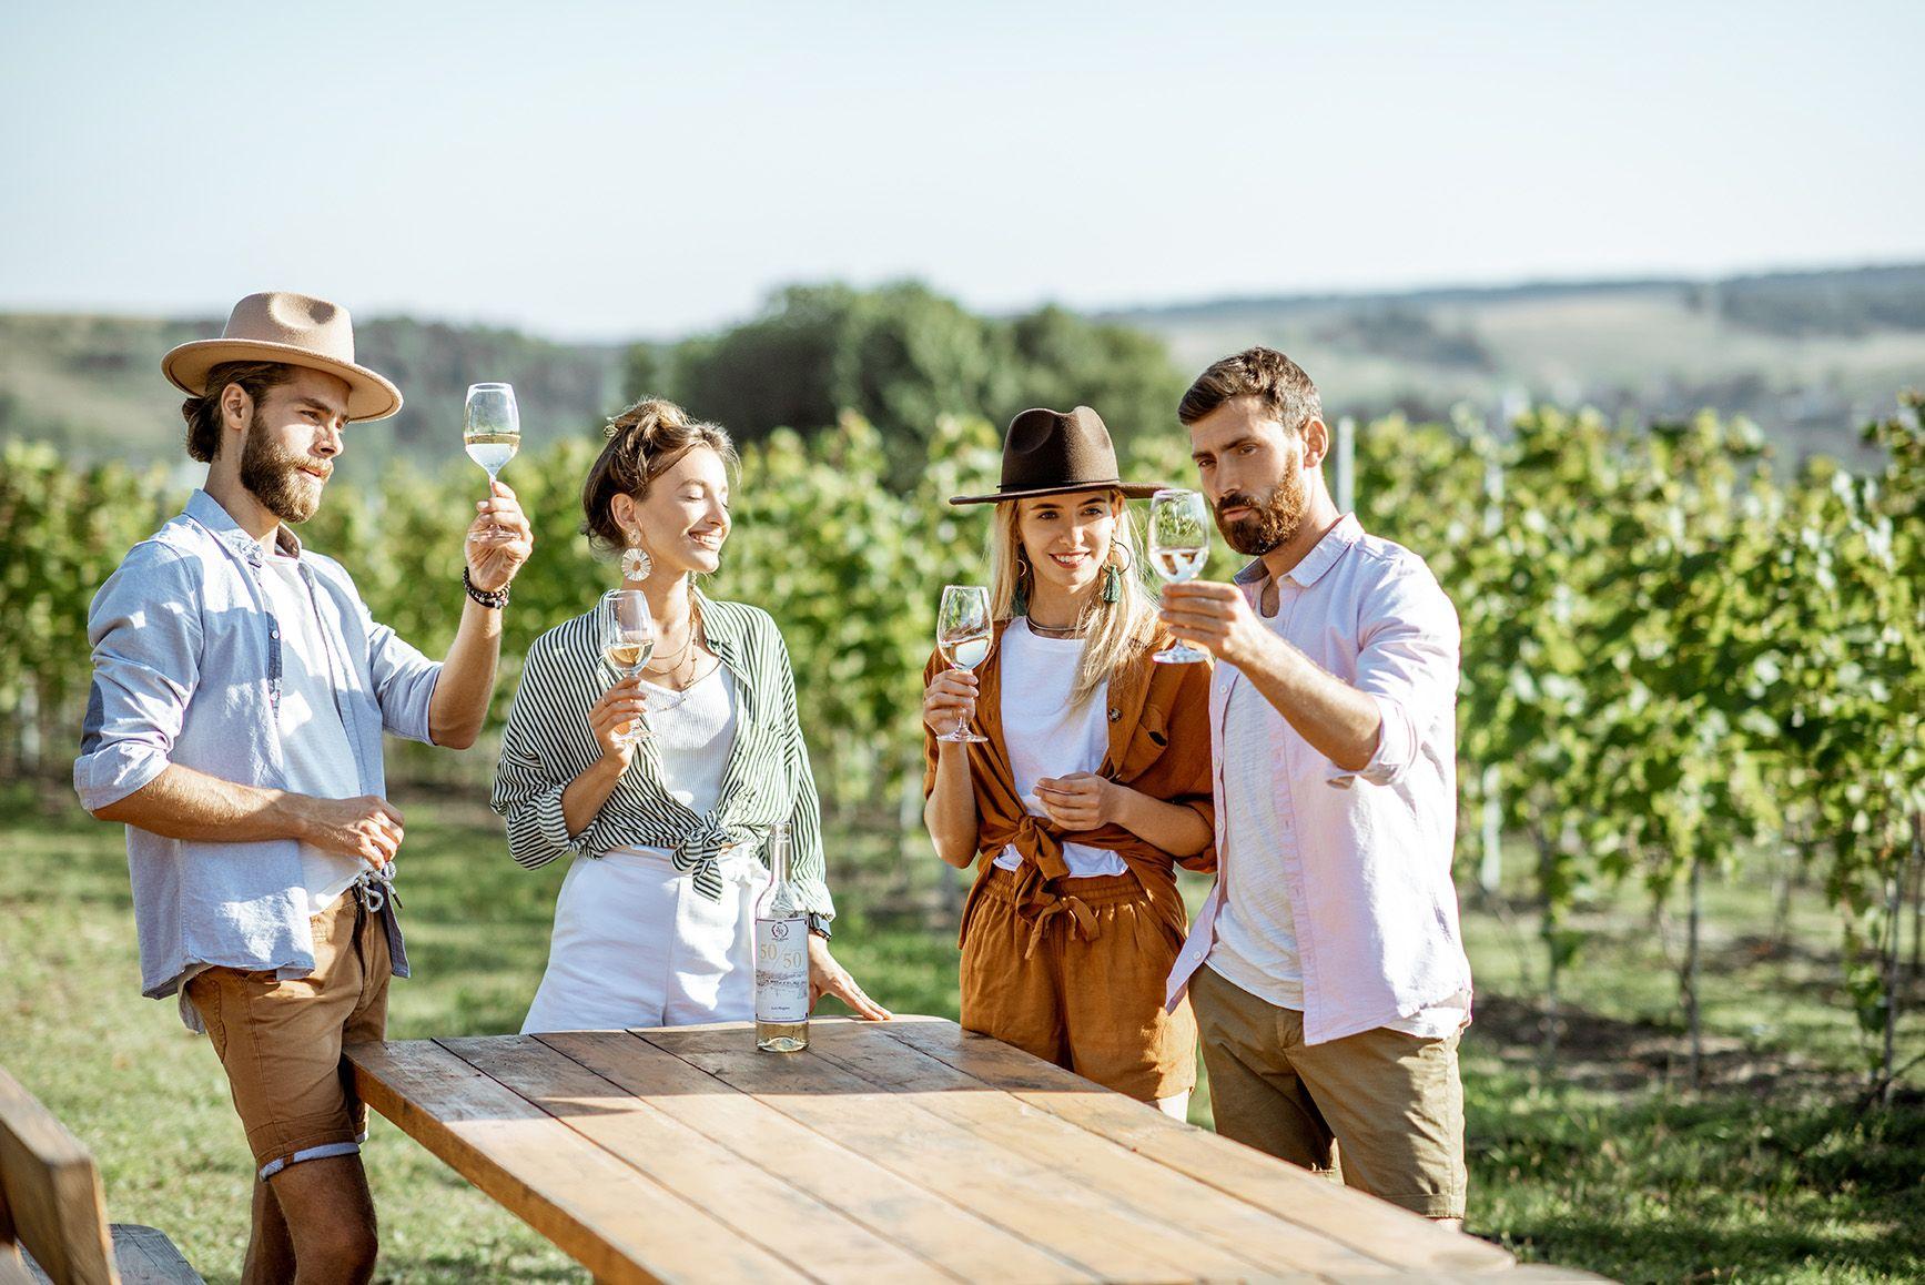
{"type": "Polygon", "coordinates": [[[1103,1279],[1236,1279],[1251,1272],[1244,1260],[1180,1227],[1145,1221],[968,1129],[891,1102],[897,1094],[812,1054],[772,1058],[757,1052],[741,1031],[678,1027],[637,1035],[1103,1279]]]}

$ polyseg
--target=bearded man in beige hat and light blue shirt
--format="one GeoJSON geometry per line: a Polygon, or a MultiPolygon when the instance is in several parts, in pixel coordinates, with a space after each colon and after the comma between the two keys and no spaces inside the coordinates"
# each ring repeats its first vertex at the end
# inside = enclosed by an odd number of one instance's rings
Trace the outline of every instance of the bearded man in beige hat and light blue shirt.
{"type": "MultiPolygon", "coordinates": [[[[206,489],[94,595],[73,782],[127,825],[141,983],[212,1036],[258,1167],[246,1281],[364,1281],[375,1262],[366,1112],[345,1042],[381,1038],[402,817],[381,734],[472,746],[508,582],[531,536],[499,482],[468,528],[460,630],[433,663],[375,622],[314,516],[348,424],[400,408],[354,362],[345,308],[250,295],[162,360],[206,489]],[[298,1270],[296,1270],[298,1268],[298,1270]]],[[[424,591],[431,591],[424,586],[424,591]]]]}

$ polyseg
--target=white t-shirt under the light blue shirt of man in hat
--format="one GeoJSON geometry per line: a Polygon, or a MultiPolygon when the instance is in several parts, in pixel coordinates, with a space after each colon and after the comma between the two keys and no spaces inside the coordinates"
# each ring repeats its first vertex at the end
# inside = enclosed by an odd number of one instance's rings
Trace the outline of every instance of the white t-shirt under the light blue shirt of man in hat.
{"type": "MultiPolygon", "coordinates": [[[[281,767],[287,788],[321,800],[350,800],[360,790],[354,749],[335,705],[335,670],[321,642],[314,597],[300,563],[281,553],[264,559],[262,590],[281,630],[281,767]]],[[[300,882],[308,915],[318,915],[360,879],[360,857],[300,846],[300,882]]]]}

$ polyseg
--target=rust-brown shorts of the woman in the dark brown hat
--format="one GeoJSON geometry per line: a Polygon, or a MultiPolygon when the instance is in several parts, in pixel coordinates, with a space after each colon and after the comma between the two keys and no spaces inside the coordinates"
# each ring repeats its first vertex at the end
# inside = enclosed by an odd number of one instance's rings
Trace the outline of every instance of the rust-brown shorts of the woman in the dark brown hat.
{"type": "Polygon", "coordinates": [[[1065,879],[1088,911],[1036,923],[1016,913],[1016,877],[993,871],[962,934],[962,1027],[1068,1067],[1140,1102],[1197,1083],[1190,1006],[1163,1011],[1182,946],[1136,875],[1065,879]]]}

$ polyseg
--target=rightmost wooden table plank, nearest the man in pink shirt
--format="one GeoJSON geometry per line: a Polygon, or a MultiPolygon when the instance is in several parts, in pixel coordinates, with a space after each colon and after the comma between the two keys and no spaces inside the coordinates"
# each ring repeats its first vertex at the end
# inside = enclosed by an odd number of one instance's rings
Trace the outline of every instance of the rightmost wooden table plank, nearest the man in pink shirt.
{"type": "Polygon", "coordinates": [[[1332,1241],[1424,1275],[1503,1272],[1509,1252],[1446,1227],[1432,1227],[1361,1191],[1222,1139],[1118,1094],[1088,1092],[1090,1081],[1018,1048],[951,1023],[887,1023],[891,1038],[951,1067],[1014,1092],[1043,1112],[1099,1133],[1217,1191],[1321,1231],[1332,1241]]]}

